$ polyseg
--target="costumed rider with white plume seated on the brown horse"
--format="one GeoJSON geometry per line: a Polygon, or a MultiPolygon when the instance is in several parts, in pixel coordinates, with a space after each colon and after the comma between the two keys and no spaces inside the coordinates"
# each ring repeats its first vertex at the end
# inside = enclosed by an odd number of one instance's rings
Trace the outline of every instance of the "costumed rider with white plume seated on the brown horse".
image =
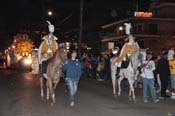
{"type": "Polygon", "coordinates": [[[54,25],[49,21],[46,21],[49,29],[49,34],[45,35],[42,40],[44,40],[38,50],[38,60],[40,65],[40,73],[45,73],[47,69],[47,60],[53,56],[53,54],[58,49],[58,44],[56,42],[57,37],[53,35],[54,25]]]}

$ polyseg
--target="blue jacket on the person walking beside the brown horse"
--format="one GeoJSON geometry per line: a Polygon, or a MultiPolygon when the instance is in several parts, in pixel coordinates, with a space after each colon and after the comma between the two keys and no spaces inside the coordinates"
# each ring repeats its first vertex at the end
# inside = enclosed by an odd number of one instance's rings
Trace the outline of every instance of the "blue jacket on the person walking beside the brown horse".
{"type": "Polygon", "coordinates": [[[63,66],[67,78],[79,78],[81,76],[81,63],[78,60],[68,60],[63,66]]]}

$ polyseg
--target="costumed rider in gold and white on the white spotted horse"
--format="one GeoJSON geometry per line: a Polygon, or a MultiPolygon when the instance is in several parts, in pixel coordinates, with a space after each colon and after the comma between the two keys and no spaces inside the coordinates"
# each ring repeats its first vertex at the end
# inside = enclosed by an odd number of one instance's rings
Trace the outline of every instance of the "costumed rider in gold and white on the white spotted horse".
{"type": "Polygon", "coordinates": [[[135,54],[139,49],[139,45],[134,41],[134,37],[131,34],[131,23],[125,23],[125,33],[128,36],[128,42],[126,42],[120,52],[119,57],[116,60],[116,64],[120,68],[127,68],[129,65],[129,57],[135,54]]]}

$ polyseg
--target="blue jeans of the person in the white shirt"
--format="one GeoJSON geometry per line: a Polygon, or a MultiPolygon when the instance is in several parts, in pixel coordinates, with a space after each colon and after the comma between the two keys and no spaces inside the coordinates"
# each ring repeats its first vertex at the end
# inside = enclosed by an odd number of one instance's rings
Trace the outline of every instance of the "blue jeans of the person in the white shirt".
{"type": "Polygon", "coordinates": [[[147,79],[143,78],[143,100],[147,101],[147,88],[149,86],[151,96],[153,101],[155,102],[157,100],[156,90],[154,87],[154,79],[147,79]]]}

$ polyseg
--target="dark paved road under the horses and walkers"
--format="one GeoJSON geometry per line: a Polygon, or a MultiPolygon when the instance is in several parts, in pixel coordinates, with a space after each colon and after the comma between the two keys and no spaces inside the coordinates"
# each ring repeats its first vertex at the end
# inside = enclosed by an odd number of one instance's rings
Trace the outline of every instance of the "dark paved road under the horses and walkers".
{"type": "MultiPolygon", "coordinates": [[[[129,102],[127,92],[113,98],[109,83],[83,79],[76,106],[71,108],[64,83],[56,91],[57,103],[40,99],[38,78],[30,73],[0,70],[0,116],[167,116],[175,112],[175,101],[144,104],[141,90],[136,90],[137,102],[129,102]]],[[[125,88],[126,90],[126,88],[125,88]]]]}

